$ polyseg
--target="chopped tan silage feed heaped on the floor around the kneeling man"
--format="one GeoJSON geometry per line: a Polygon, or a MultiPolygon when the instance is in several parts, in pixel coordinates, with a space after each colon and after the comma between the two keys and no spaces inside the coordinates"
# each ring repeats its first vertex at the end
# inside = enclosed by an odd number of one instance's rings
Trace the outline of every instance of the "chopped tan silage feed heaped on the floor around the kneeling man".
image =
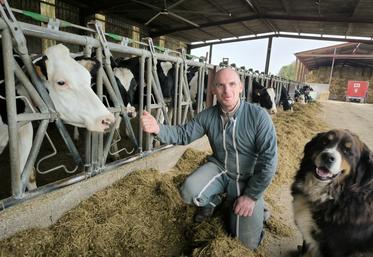
{"type": "Polygon", "coordinates": [[[293,235],[281,218],[273,192],[291,183],[304,144],[325,129],[318,104],[296,106],[273,118],[279,144],[279,169],[266,193],[273,212],[266,237],[256,251],[228,236],[222,207],[201,224],[193,223],[195,208],[183,204],[178,188],[206,161],[209,153],[188,149],[166,173],[139,170],[96,193],[47,229],[31,229],[0,241],[0,256],[271,256],[273,238],[293,235]],[[277,213],[278,212],[278,213],[277,213]]]}

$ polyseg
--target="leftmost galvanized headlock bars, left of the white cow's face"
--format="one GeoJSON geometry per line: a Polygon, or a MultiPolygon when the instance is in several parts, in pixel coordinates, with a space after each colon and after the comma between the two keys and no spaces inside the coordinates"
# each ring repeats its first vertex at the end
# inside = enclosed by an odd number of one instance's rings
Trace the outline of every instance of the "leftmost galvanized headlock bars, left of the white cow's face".
{"type": "MultiPolygon", "coordinates": [[[[79,156],[79,152],[77,151],[75,145],[73,144],[69,134],[66,131],[62,121],[59,119],[57,113],[55,112],[54,105],[46,91],[43,82],[40,78],[36,75],[35,70],[32,65],[32,61],[30,55],[28,54],[26,38],[20,29],[18,21],[14,17],[10,6],[8,5],[7,1],[5,1],[4,5],[0,5],[0,13],[2,18],[4,19],[7,28],[2,31],[2,41],[3,41],[3,52],[4,52],[4,60],[8,60],[9,63],[13,63],[13,65],[5,65],[4,73],[5,73],[5,84],[7,89],[7,110],[8,110],[8,117],[10,117],[10,126],[9,126],[9,146],[10,146],[10,158],[11,158],[11,170],[12,170],[12,194],[16,197],[22,197],[22,194],[26,190],[26,183],[31,176],[32,167],[35,163],[37,153],[40,150],[41,143],[43,141],[43,137],[46,133],[47,126],[49,120],[55,121],[56,126],[63,137],[68,149],[73,155],[74,161],[76,164],[81,163],[81,158],[79,156]],[[31,148],[31,152],[27,158],[26,165],[23,171],[20,171],[20,167],[17,164],[17,129],[16,129],[16,112],[15,112],[15,100],[11,100],[15,96],[15,88],[14,88],[14,71],[9,70],[12,66],[16,66],[13,70],[16,71],[18,77],[23,77],[21,73],[21,69],[17,67],[16,62],[14,61],[13,54],[13,47],[10,36],[14,39],[14,46],[15,49],[18,51],[25,67],[30,75],[31,81],[36,87],[38,94],[41,96],[43,101],[40,101],[37,94],[34,90],[30,89],[31,87],[26,87],[26,90],[30,91],[30,96],[33,100],[36,100],[36,103],[39,104],[38,108],[40,109],[41,113],[45,114],[44,117],[40,118],[42,120],[39,128],[37,130],[35,139],[33,141],[33,146],[31,148]],[[9,95],[9,97],[8,97],[9,95]],[[21,173],[22,172],[22,173],[21,173]]],[[[26,84],[28,84],[26,82],[26,84]]]]}

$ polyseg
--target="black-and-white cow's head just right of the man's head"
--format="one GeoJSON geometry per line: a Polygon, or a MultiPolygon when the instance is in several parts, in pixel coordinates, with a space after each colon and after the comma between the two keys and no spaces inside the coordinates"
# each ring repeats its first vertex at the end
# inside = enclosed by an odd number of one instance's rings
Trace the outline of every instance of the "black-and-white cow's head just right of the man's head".
{"type": "MultiPolygon", "coordinates": [[[[248,77],[246,77],[246,80],[248,80],[248,77]]],[[[247,87],[246,90],[248,90],[248,83],[245,84],[247,87]]],[[[255,77],[252,81],[251,96],[253,103],[258,103],[261,107],[265,108],[268,113],[277,113],[274,89],[271,87],[265,88],[256,80],[255,77]]]]}

